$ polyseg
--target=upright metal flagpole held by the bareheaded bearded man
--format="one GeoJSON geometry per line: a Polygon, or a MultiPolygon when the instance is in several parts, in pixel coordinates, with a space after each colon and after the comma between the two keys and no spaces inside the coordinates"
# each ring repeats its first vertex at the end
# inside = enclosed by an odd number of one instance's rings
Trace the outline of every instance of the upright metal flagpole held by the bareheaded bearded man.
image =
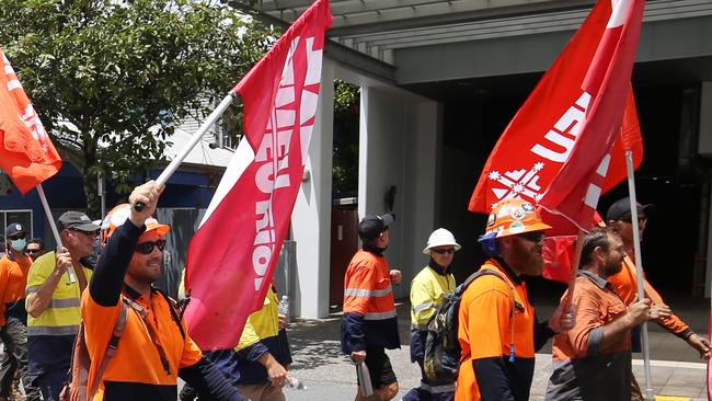
{"type": "MultiPolygon", "coordinates": [[[[645,276],[643,275],[643,257],[641,256],[640,227],[638,224],[638,199],[635,199],[635,173],[633,172],[633,151],[625,150],[625,168],[628,170],[628,192],[631,200],[631,222],[633,224],[633,249],[635,250],[635,271],[638,282],[638,299],[645,299],[645,276]]],[[[645,399],[652,400],[653,378],[651,375],[651,351],[647,340],[647,322],[641,326],[643,333],[643,366],[645,368],[645,399]]]]}

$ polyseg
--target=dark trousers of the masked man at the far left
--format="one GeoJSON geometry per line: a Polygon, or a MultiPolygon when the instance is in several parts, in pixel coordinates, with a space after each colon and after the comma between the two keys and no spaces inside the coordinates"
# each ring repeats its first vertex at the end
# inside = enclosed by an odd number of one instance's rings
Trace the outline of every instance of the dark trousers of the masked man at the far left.
{"type": "Polygon", "coordinates": [[[0,329],[0,339],[4,344],[0,364],[0,397],[10,396],[12,380],[19,369],[26,400],[41,401],[39,389],[27,378],[27,326],[20,319],[9,317],[5,325],[0,329]]]}

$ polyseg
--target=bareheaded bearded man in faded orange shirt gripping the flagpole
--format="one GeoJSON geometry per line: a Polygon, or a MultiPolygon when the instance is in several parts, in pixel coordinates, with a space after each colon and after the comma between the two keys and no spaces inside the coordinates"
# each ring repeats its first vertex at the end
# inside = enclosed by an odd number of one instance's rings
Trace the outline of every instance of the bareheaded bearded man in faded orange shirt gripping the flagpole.
{"type": "MultiPolygon", "coordinates": [[[[650,299],[628,310],[607,280],[621,270],[623,242],[611,228],[596,228],[584,238],[581,270],[571,302],[576,325],[554,337],[554,370],[547,400],[630,400],[631,329],[651,319],[669,317],[650,299]]],[[[567,294],[562,302],[567,302],[567,294]]]]}

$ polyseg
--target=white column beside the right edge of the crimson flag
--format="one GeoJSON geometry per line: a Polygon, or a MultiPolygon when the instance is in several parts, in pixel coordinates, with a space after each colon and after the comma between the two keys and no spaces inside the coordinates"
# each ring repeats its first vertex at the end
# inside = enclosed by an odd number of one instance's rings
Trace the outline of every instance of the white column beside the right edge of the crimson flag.
{"type": "Polygon", "coordinates": [[[297,299],[292,301],[295,313],[308,319],[329,316],[334,62],[326,57],[315,118],[305,180],[291,214],[291,234],[297,242],[297,299]]]}

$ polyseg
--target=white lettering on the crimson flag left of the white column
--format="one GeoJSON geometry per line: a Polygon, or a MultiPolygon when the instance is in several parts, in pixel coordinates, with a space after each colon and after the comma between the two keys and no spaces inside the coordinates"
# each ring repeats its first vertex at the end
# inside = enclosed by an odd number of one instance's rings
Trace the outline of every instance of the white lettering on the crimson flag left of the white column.
{"type": "MultiPolygon", "coordinates": [[[[255,185],[264,197],[255,202],[255,238],[252,248],[252,268],[256,275],[254,279],[255,291],[260,289],[262,280],[274,256],[275,221],[272,208],[273,193],[275,190],[288,188],[299,183],[291,182],[287,169],[289,165],[289,146],[292,134],[299,137],[301,163],[303,165],[309,150],[309,139],[313,129],[312,118],[317,113],[319,99],[319,81],[321,78],[322,50],[313,49],[314,38],[308,37],[302,47],[298,47],[300,37],[292,39],[289,53],[282,71],[282,80],[277,89],[275,104],[273,104],[265,134],[255,153],[255,163],[261,164],[255,174],[255,185]],[[306,51],[306,79],[303,88],[295,85],[295,51],[306,51]],[[311,89],[307,89],[311,85],[311,89]],[[315,92],[314,92],[315,87],[315,92]],[[301,102],[296,105],[296,94],[300,91],[301,102]],[[297,110],[299,121],[297,122],[297,110]],[[306,124],[309,122],[309,124],[306,124]],[[299,128],[297,131],[295,128],[299,128]]],[[[292,154],[296,158],[296,154],[292,154]]],[[[292,160],[294,160],[292,158],[292,160]]],[[[295,168],[292,165],[292,168],[295,168]]],[[[289,214],[286,214],[288,218],[289,214]]]]}

